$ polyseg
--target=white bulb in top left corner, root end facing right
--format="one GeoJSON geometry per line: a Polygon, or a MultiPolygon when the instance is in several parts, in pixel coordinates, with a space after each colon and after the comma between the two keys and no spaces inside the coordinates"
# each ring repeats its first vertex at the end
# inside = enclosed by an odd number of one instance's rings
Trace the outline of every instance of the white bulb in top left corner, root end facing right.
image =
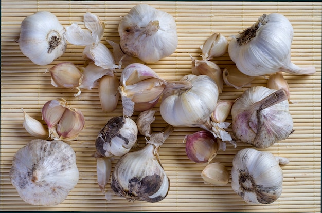
{"type": "Polygon", "coordinates": [[[34,64],[47,65],[64,54],[65,29],[54,14],[34,13],[22,21],[20,29],[20,50],[34,64]]]}

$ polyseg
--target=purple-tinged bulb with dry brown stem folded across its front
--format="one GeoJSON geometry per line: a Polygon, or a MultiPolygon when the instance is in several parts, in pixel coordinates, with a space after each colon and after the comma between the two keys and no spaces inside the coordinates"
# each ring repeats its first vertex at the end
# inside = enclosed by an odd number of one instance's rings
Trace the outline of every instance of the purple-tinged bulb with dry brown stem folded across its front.
{"type": "Polygon", "coordinates": [[[256,148],[267,148],[288,138],[293,119],[287,99],[283,89],[247,89],[231,108],[231,128],[236,139],[256,148]]]}

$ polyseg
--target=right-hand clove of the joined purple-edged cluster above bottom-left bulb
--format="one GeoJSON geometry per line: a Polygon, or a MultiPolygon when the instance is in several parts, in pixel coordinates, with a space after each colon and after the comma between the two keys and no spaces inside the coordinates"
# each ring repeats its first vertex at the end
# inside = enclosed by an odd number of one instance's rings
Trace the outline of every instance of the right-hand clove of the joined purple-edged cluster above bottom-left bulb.
{"type": "Polygon", "coordinates": [[[76,108],[66,108],[57,124],[59,140],[70,141],[78,137],[85,127],[83,113],[76,108]]]}

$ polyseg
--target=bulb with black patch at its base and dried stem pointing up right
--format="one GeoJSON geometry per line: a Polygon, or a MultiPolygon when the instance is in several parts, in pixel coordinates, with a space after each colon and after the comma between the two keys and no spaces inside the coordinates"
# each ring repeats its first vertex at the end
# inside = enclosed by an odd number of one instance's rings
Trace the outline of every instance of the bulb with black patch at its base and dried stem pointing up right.
{"type": "Polygon", "coordinates": [[[128,201],[158,202],[169,191],[170,180],[159,159],[159,147],[173,131],[167,126],[163,132],[153,133],[140,150],[122,156],[115,165],[111,188],[128,201]]]}

